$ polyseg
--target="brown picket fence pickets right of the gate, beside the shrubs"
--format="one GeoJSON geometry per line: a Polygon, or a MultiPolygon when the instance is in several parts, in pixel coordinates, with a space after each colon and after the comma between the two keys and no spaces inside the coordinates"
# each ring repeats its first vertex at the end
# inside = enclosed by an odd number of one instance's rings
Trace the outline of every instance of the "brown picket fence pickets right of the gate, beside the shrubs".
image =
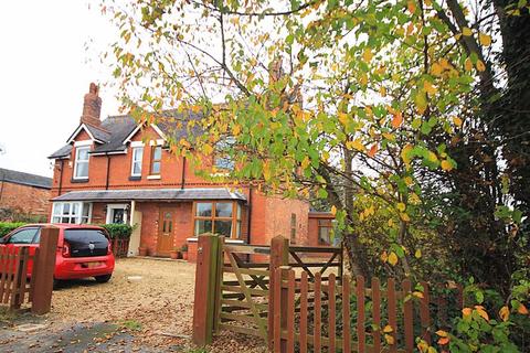
{"type": "MultiPolygon", "coordinates": [[[[274,352],[413,352],[416,338],[432,343],[433,315],[437,324],[448,315],[446,298],[432,298],[425,281],[413,288],[405,279],[399,289],[393,278],[385,286],[373,278],[367,287],[362,276],[353,281],[331,274],[322,280],[317,274],[311,280],[288,266],[273,276],[279,298],[273,311],[274,352]]],[[[462,288],[454,297],[462,308],[462,288]]]]}

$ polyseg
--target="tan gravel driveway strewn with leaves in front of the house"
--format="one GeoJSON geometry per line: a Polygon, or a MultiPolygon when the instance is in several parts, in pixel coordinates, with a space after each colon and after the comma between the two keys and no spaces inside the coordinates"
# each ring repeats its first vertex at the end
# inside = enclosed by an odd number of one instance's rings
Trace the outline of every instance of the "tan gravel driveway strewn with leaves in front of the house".
{"type": "MultiPolygon", "coordinates": [[[[194,271],[193,264],[179,260],[119,259],[108,284],[65,282],[53,292],[47,315],[22,315],[6,325],[0,346],[9,351],[10,344],[22,344],[29,352],[200,352],[190,342],[194,271]],[[17,325],[28,322],[40,329],[21,333],[17,325]]],[[[258,340],[230,332],[208,347],[265,351],[258,340]]]]}

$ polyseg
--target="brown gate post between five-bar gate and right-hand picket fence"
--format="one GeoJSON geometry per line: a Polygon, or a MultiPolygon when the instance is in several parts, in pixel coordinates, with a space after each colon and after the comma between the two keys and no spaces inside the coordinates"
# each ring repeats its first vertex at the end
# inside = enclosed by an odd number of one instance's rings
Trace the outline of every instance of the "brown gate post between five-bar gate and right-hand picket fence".
{"type": "MultiPolygon", "coordinates": [[[[275,296],[275,274],[282,266],[289,265],[289,239],[282,235],[275,236],[271,242],[271,264],[268,270],[271,271],[268,285],[268,349],[274,349],[274,302],[275,296]]],[[[279,298],[277,299],[279,300],[279,298]]],[[[279,336],[279,334],[278,334],[279,336]]]]}

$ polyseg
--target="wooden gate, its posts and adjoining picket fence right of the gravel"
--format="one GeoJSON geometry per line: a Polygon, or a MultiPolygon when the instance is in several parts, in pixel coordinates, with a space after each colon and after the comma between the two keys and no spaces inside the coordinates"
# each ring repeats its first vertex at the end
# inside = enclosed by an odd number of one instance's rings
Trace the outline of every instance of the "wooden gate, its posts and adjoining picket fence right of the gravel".
{"type": "Polygon", "coordinates": [[[201,235],[198,248],[199,345],[233,331],[261,338],[274,352],[413,352],[416,338],[431,343],[448,327],[449,310],[462,309],[458,286],[352,280],[337,247],[296,247],[282,236],[271,246],[234,245],[201,235]]]}

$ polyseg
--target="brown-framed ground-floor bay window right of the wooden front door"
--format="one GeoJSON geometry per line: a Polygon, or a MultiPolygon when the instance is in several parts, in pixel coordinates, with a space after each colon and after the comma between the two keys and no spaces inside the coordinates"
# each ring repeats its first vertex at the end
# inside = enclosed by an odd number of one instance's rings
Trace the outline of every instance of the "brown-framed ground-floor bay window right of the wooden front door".
{"type": "Polygon", "coordinates": [[[236,202],[195,202],[194,235],[213,233],[241,237],[241,205],[236,202]]]}

